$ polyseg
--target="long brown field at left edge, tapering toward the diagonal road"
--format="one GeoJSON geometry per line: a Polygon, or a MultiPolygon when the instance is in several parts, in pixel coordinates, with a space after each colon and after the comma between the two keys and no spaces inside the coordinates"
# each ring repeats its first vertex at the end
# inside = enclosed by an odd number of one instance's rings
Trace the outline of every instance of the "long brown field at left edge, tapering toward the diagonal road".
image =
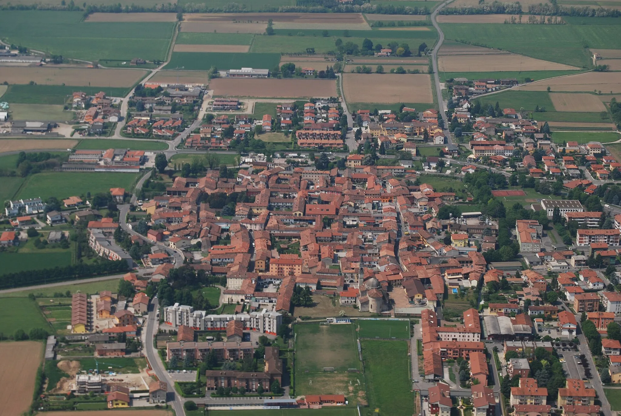
{"type": "Polygon", "coordinates": [[[2,67],[0,82],[9,84],[101,85],[130,87],[140,81],[147,71],[125,69],[93,69],[63,67],[2,67]]]}

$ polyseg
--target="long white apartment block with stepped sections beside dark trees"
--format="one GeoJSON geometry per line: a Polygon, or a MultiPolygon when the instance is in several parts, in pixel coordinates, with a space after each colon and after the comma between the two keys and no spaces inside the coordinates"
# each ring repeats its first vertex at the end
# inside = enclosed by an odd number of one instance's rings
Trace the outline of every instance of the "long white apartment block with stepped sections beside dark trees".
{"type": "Polygon", "coordinates": [[[175,329],[184,325],[197,331],[225,331],[230,321],[241,321],[244,330],[276,335],[278,326],[283,323],[283,315],[266,309],[238,315],[207,315],[207,311],[194,310],[179,303],[164,308],[164,322],[175,329]]]}

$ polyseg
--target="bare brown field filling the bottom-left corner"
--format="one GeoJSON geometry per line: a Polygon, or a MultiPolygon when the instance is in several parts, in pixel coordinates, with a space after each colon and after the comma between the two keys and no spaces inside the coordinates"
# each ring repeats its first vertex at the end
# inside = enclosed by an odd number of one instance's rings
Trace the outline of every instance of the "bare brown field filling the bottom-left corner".
{"type": "Polygon", "coordinates": [[[0,416],[20,415],[29,409],[42,353],[40,342],[0,343],[0,416]]]}

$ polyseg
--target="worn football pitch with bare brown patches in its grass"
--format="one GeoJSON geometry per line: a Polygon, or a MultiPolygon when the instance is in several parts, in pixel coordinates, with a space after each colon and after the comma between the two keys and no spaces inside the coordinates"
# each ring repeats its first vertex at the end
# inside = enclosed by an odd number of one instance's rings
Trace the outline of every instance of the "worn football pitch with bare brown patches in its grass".
{"type": "Polygon", "coordinates": [[[358,374],[348,369],[362,369],[358,359],[354,325],[296,325],[296,393],[345,394],[358,374]],[[317,354],[321,351],[321,354],[317,354]],[[324,372],[324,367],[333,371],[324,372]]]}

